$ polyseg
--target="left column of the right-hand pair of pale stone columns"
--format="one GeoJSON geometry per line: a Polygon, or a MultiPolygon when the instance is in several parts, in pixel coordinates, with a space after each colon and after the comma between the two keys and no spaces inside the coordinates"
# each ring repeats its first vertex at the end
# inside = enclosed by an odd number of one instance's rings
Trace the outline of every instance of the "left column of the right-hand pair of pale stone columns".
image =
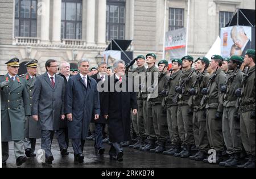
{"type": "Polygon", "coordinates": [[[87,0],[86,43],[95,45],[95,0],[87,0]]]}

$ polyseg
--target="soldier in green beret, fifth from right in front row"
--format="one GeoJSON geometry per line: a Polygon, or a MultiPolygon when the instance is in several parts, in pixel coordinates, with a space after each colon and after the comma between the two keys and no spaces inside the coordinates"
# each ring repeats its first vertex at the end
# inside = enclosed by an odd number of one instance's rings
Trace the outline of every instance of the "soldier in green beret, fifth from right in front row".
{"type": "Polygon", "coordinates": [[[184,132],[179,131],[181,140],[183,142],[183,151],[174,154],[176,157],[188,158],[191,155],[191,147],[194,144],[193,137],[193,126],[192,126],[192,117],[193,109],[188,105],[189,89],[193,87],[193,84],[196,82],[196,73],[192,69],[193,57],[185,56],[181,59],[183,61],[183,73],[179,80],[179,86],[175,87],[175,91],[179,96],[178,110],[177,110],[177,121],[179,129],[181,126],[184,126],[184,132]]]}

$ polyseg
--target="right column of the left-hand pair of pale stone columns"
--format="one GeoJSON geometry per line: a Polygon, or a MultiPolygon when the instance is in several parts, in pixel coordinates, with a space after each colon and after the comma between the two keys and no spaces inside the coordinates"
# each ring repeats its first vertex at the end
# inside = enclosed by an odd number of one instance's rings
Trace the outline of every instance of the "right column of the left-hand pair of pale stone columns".
{"type": "Polygon", "coordinates": [[[61,39],[61,0],[53,0],[52,42],[59,44],[61,39]]]}

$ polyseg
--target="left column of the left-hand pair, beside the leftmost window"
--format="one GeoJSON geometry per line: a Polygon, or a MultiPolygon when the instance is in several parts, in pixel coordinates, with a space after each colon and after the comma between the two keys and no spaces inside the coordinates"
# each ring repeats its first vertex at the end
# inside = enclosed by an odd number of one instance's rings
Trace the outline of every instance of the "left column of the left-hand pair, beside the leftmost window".
{"type": "Polygon", "coordinates": [[[49,0],[42,0],[41,42],[49,43],[49,0]]]}

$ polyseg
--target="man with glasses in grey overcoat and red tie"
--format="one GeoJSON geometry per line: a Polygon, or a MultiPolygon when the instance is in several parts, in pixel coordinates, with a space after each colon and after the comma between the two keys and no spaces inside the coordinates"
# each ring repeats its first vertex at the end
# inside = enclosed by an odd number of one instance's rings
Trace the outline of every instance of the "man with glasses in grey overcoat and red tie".
{"type": "Polygon", "coordinates": [[[64,79],[56,75],[59,65],[54,59],[46,62],[47,72],[38,76],[32,97],[32,117],[42,126],[41,147],[46,152],[46,163],[51,165],[51,144],[55,130],[59,130],[60,119],[64,120],[64,79]]]}

